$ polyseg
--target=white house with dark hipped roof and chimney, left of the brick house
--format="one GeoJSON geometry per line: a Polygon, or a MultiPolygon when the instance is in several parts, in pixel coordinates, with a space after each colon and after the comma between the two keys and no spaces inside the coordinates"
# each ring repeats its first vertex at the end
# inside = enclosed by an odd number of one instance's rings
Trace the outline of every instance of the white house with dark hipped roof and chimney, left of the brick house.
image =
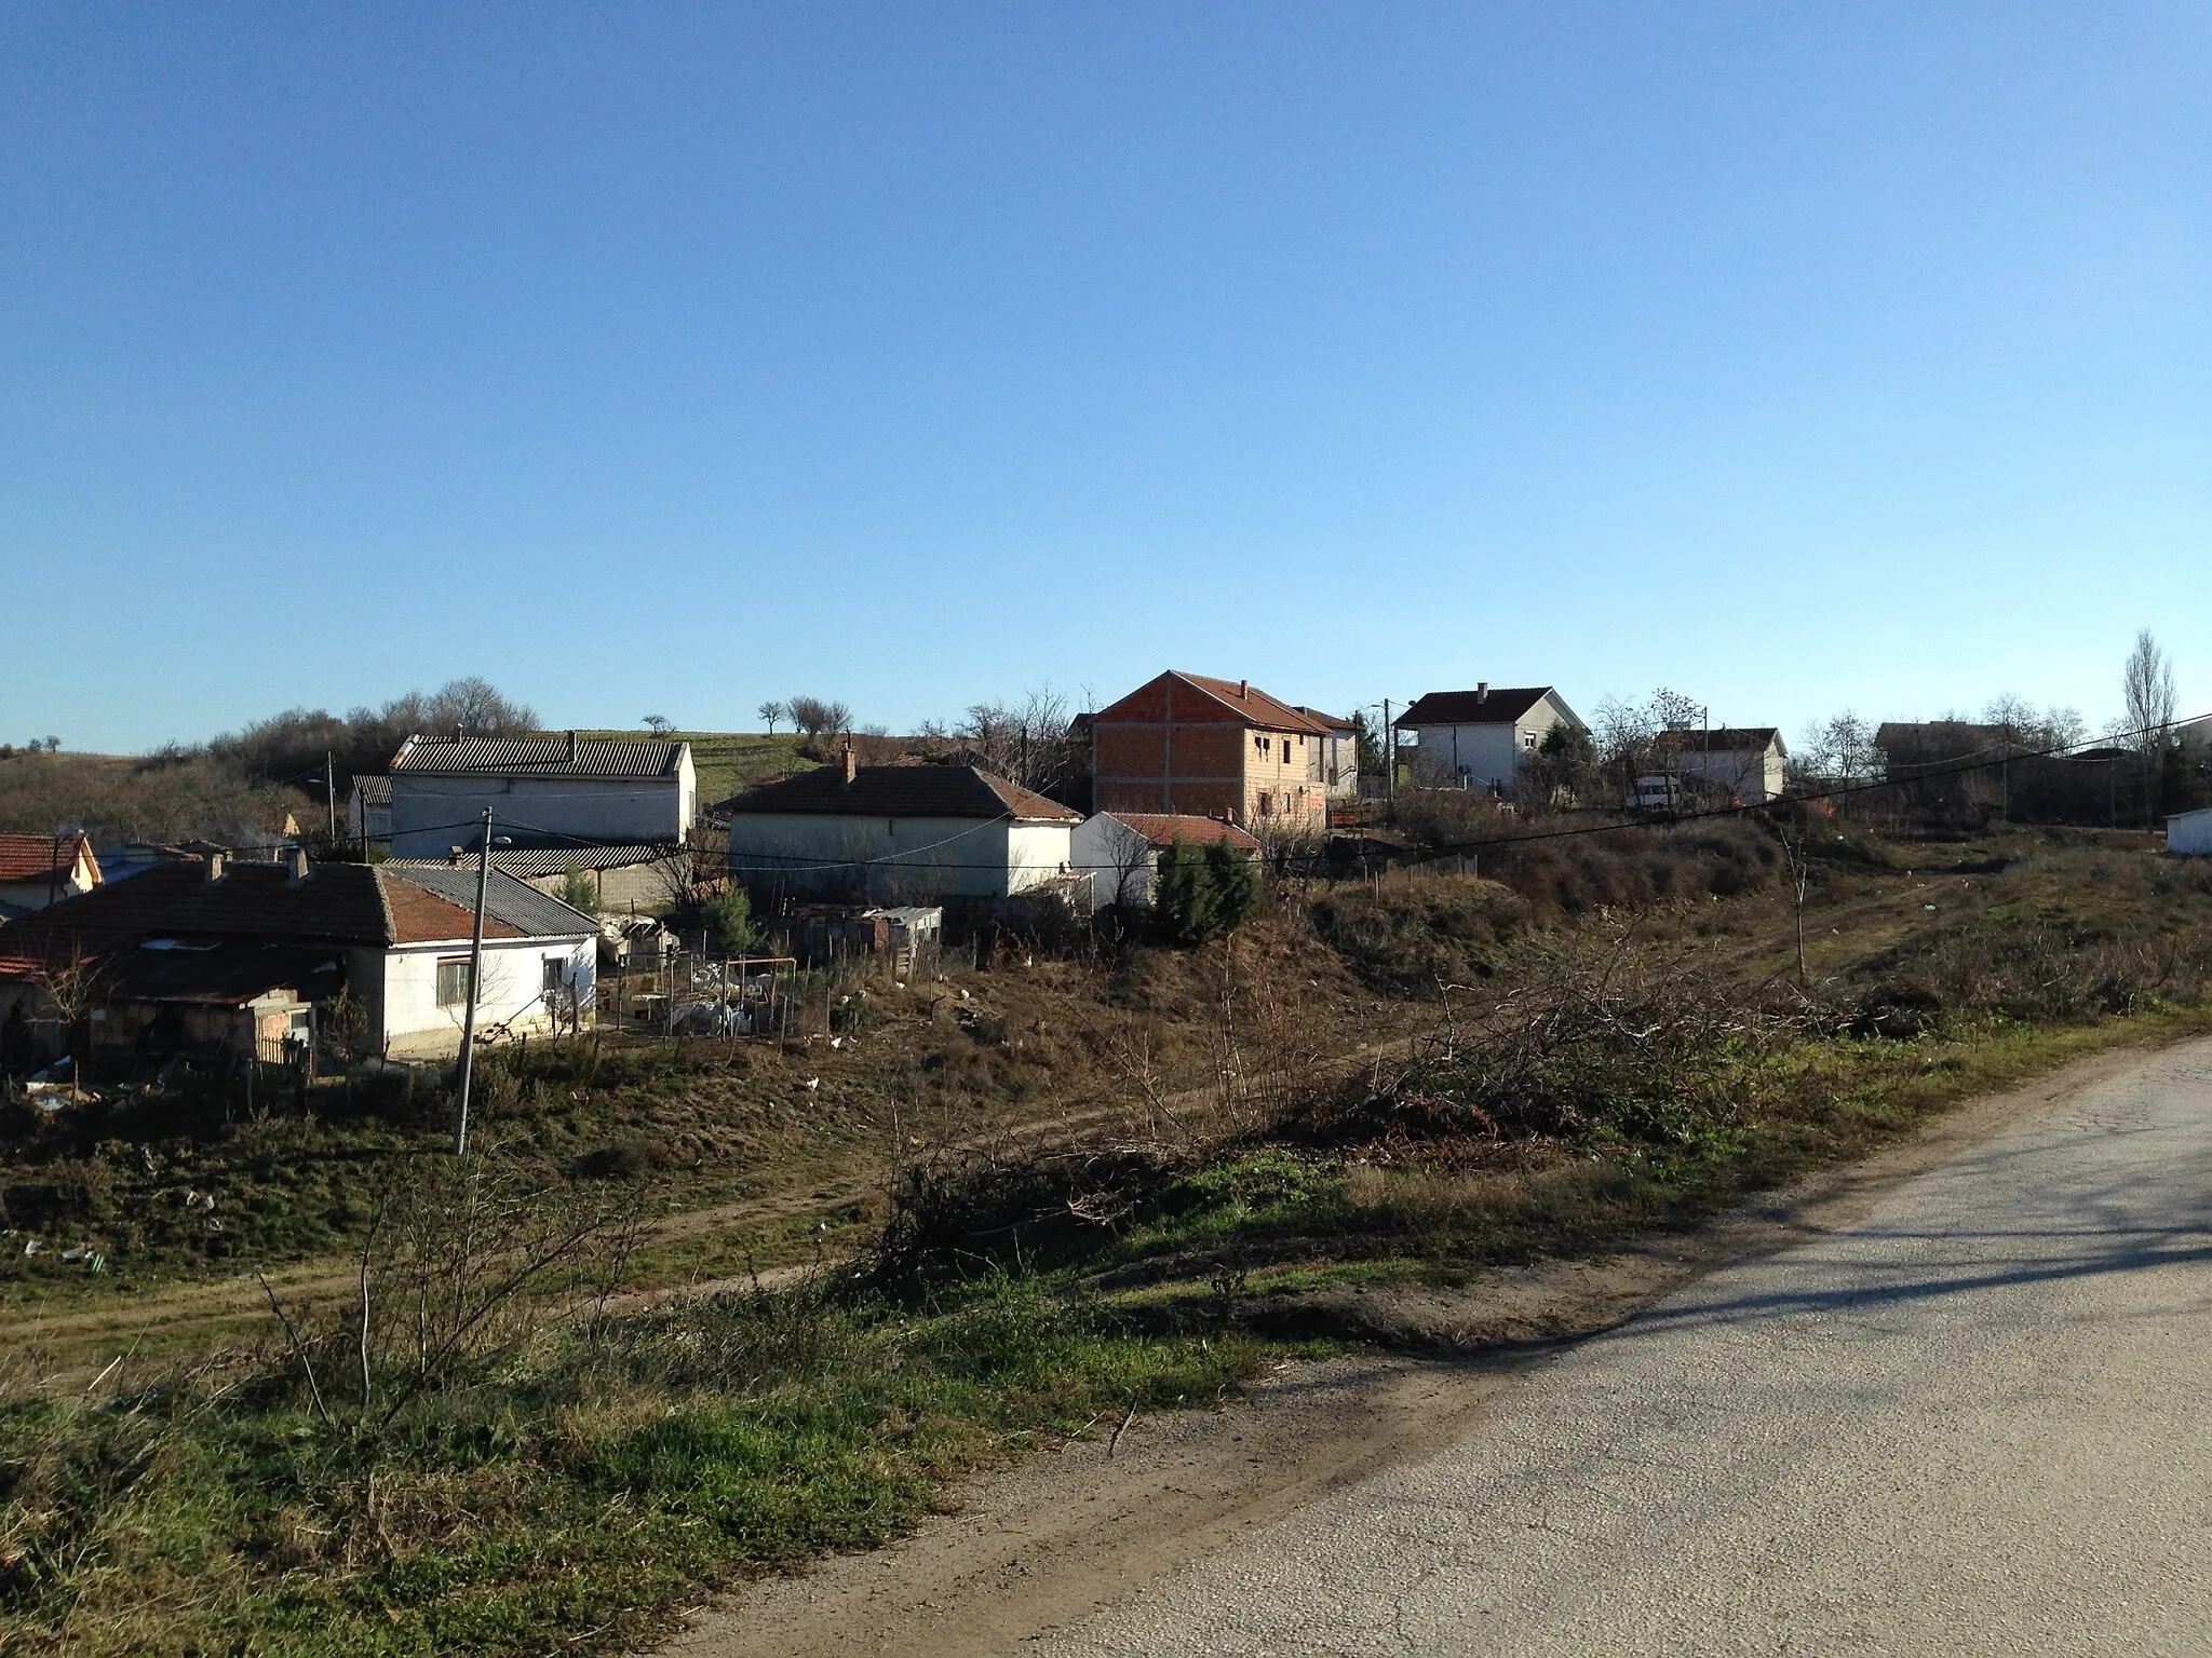
{"type": "Polygon", "coordinates": [[[730,875],[785,900],[991,906],[1064,891],[1082,814],[973,765],[825,765],[726,800],[730,875]]]}

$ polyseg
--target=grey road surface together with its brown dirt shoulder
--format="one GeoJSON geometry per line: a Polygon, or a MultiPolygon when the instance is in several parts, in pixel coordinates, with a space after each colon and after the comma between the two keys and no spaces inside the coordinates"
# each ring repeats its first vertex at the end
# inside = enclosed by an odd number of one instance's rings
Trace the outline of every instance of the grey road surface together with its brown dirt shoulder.
{"type": "Polygon", "coordinates": [[[2212,1651],[2212,1041],[1615,1267],[1500,1333],[1694,1282],[1071,1446],[670,1651],[2212,1651]]]}

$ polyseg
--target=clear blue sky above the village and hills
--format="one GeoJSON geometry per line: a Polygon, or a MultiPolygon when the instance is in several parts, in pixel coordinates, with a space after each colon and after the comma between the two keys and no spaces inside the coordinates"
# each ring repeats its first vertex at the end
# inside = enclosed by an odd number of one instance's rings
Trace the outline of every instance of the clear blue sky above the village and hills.
{"type": "Polygon", "coordinates": [[[2201,4],[11,4],[0,736],[2212,707],[2201,4]]]}

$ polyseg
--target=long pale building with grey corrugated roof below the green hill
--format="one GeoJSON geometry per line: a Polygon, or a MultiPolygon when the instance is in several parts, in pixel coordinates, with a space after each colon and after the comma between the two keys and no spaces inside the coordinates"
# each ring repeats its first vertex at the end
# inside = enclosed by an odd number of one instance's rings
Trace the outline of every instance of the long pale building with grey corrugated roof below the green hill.
{"type": "Polygon", "coordinates": [[[690,743],[575,732],[409,736],[392,756],[392,856],[440,858],[493,836],[513,847],[688,844],[699,807],[690,743]]]}

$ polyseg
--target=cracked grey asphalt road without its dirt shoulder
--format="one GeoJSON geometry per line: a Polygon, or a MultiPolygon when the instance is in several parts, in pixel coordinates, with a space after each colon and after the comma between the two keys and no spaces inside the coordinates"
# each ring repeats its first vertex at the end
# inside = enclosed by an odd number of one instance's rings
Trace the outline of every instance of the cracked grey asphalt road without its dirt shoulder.
{"type": "Polygon", "coordinates": [[[2212,1043],[1031,1651],[2212,1654],[2212,1043]]]}

